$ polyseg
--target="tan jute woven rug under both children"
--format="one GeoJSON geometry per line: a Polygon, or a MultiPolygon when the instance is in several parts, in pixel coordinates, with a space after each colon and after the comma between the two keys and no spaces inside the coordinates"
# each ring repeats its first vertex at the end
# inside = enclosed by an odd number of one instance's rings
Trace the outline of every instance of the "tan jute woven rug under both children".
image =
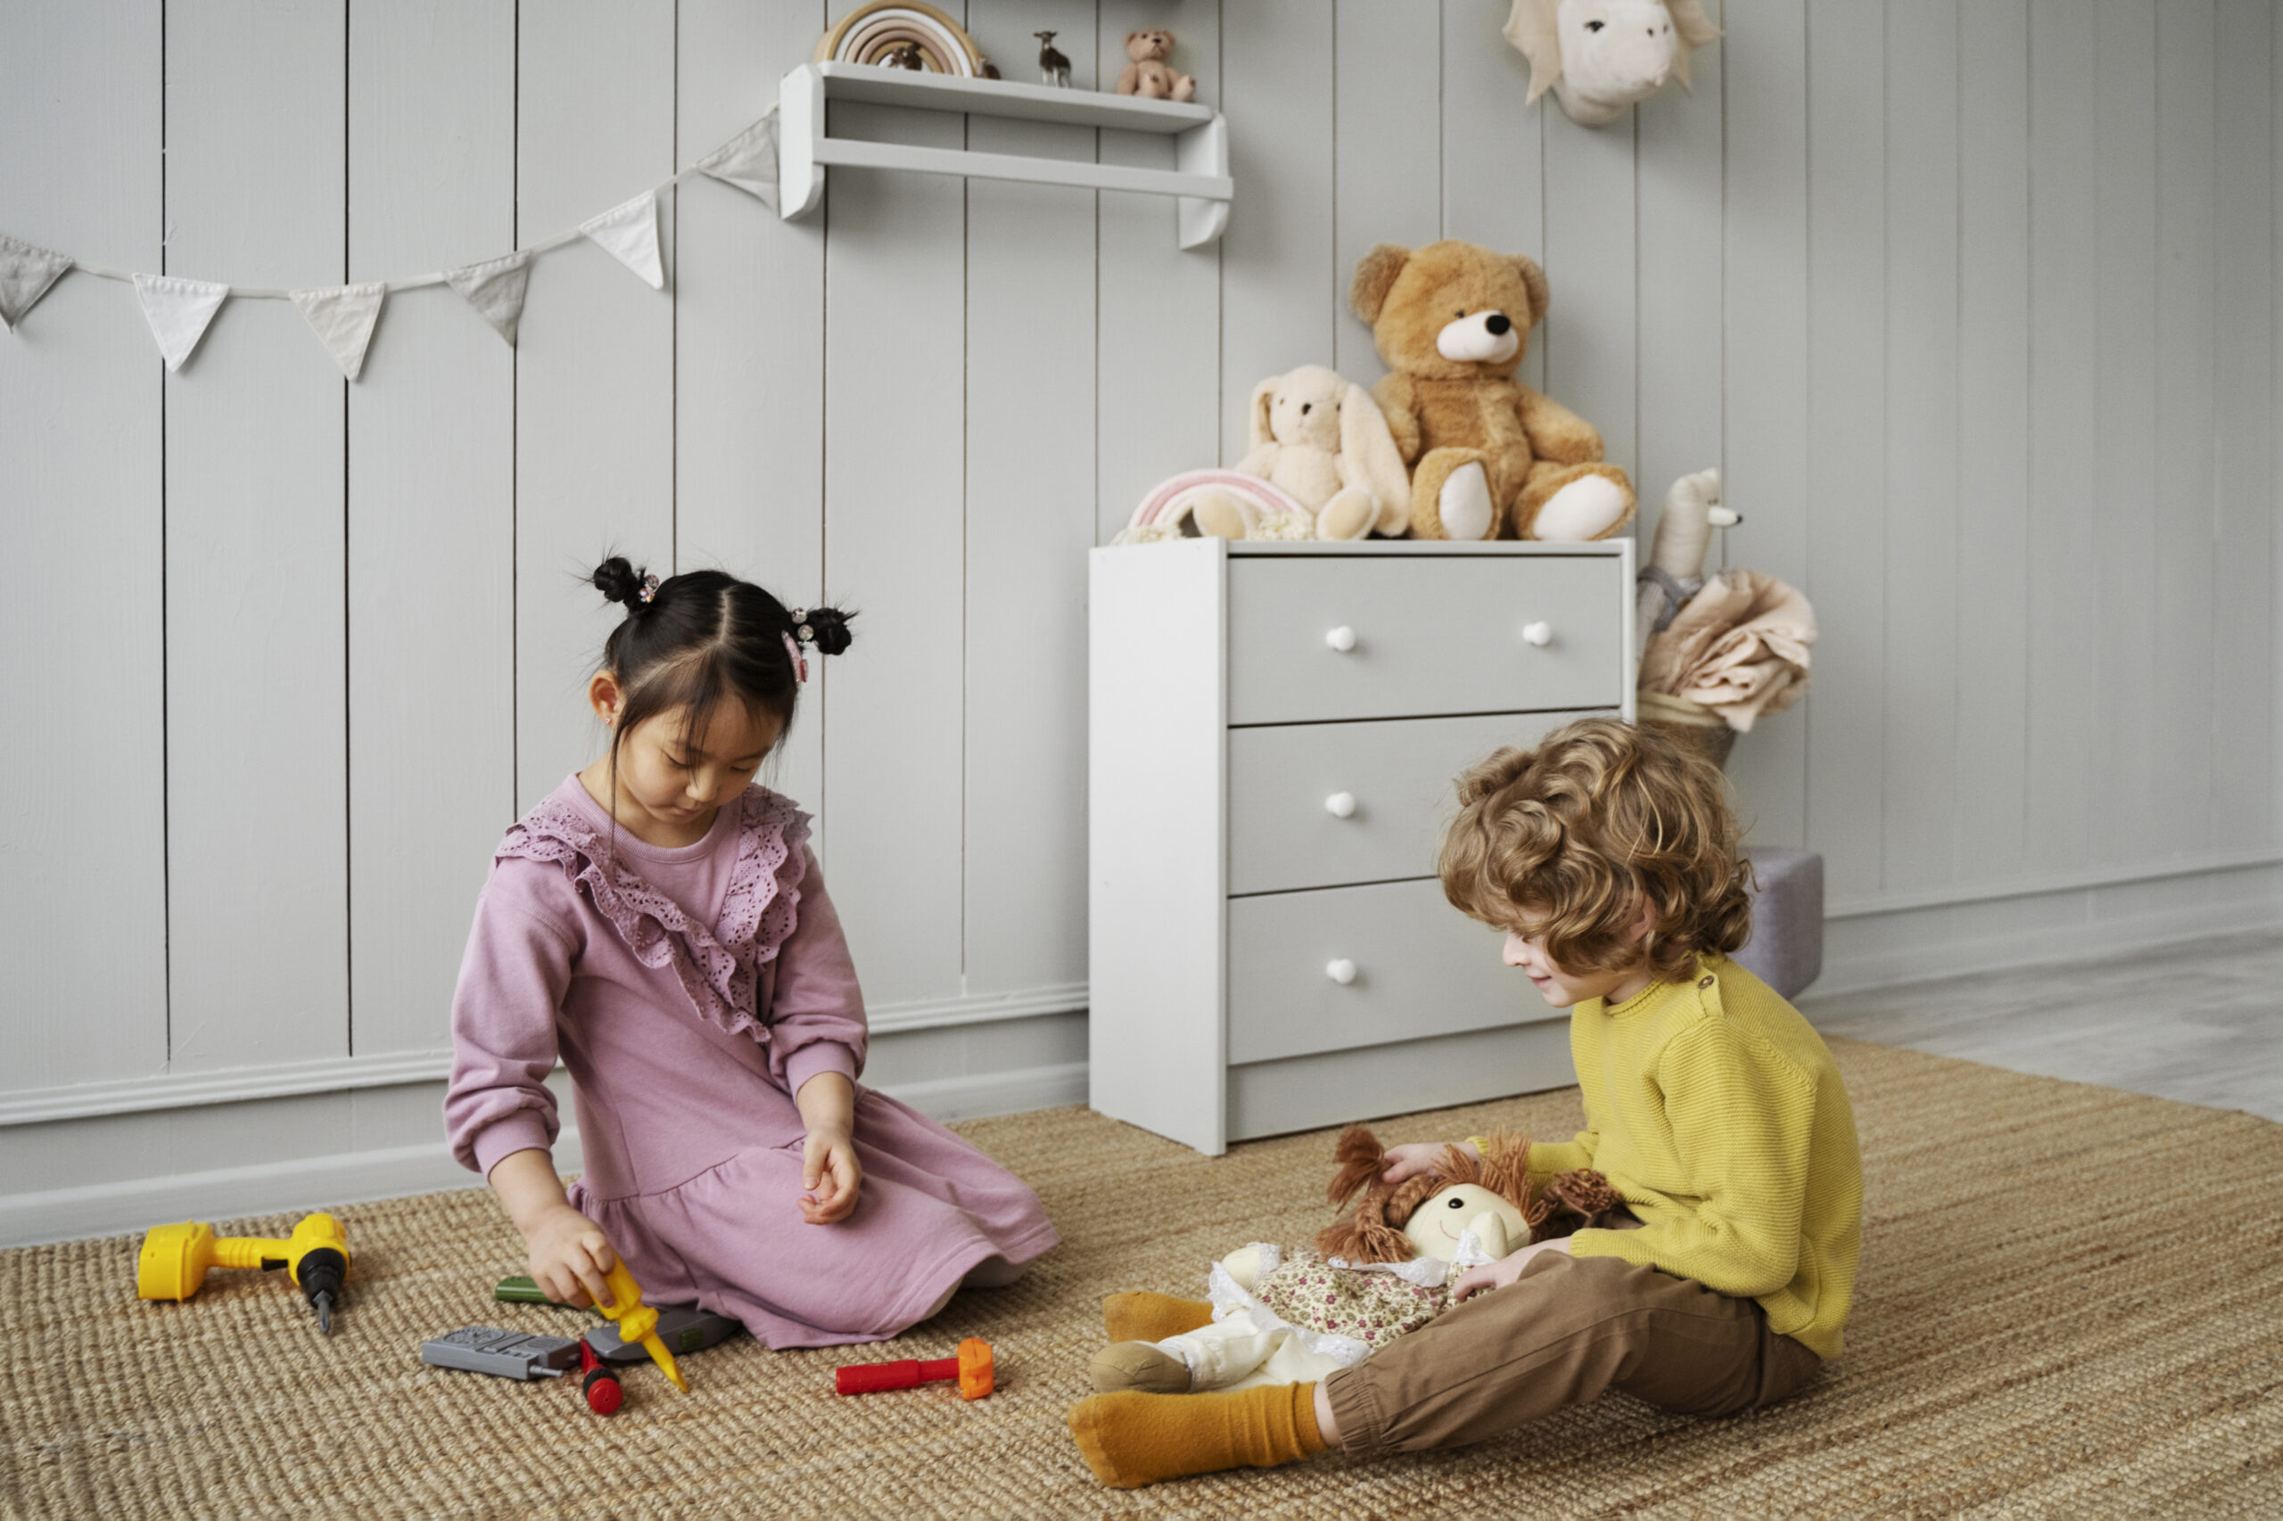
{"type": "MultiPolygon", "coordinates": [[[[354,1277],[320,1341],[288,1283],[135,1299],[135,1238],[0,1254],[11,1516],[2283,1516],[2283,1126],[1833,1041],[1867,1226],[1847,1357],[1758,1418],[1610,1398],[1466,1450],[1098,1489],[1064,1430],[1116,1288],[1324,1224],[1329,1133],[1221,1160],[1087,1110],[963,1126],[1064,1233],[1014,1288],[897,1343],[683,1361],[598,1418],[571,1382],[420,1366],[521,1247],[486,1192],[338,1210],[354,1277]],[[840,1361],[998,1350],[1000,1393],[842,1400],[840,1361]]],[[[1379,1126],[1568,1135],[1575,1089],[1379,1126]]],[[[224,1224],[224,1222],[217,1222],[224,1224]]],[[[283,1233],[288,1217],[228,1222],[283,1233]]]]}

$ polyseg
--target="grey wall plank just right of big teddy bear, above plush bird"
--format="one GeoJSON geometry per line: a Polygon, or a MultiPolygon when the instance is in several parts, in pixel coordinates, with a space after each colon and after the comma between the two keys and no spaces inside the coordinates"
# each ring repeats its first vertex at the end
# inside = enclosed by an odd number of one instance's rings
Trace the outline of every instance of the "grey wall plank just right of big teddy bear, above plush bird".
{"type": "MultiPolygon", "coordinates": [[[[1705,11],[1719,21],[1719,7],[1705,11]]],[[[1641,557],[1664,491],[1721,461],[1721,57],[1692,59],[1692,94],[1653,100],[1635,128],[1639,185],[1639,418],[1635,491],[1641,557]]],[[[1719,544],[1712,546],[1719,562],[1719,544]]],[[[1801,719],[1794,715],[1792,719],[1801,719]]]]}

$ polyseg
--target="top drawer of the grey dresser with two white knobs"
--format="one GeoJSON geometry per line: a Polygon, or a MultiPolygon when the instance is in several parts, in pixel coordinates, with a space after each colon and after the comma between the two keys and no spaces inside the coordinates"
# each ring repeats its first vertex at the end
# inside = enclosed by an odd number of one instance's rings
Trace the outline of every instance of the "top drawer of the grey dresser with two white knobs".
{"type": "Polygon", "coordinates": [[[1621,576],[1610,555],[1231,560],[1228,722],[1614,708],[1621,576]]]}

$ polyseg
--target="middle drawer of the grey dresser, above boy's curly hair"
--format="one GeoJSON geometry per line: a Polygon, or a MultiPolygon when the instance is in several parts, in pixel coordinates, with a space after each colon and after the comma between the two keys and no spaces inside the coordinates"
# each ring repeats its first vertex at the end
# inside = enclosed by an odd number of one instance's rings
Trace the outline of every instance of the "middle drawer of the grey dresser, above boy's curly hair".
{"type": "Polygon", "coordinates": [[[1228,891],[1434,875],[1459,772],[1500,745],[1536,745],[1573,717],[1493,713],[1228,731],[1228,891]]]}

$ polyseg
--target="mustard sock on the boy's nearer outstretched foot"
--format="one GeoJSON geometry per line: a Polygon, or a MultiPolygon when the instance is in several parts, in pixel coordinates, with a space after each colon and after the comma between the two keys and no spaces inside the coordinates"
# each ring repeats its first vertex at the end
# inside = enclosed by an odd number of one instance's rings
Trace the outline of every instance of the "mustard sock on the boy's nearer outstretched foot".
{"type": "Polygon", "coordinates": [[[1185,1473],[1274,1468],[1324,1450],[1315,1384],[1089,1395],[1071,1407],[1071,1436],[1110,1489],[1139,1489],[1185,1473]]]}

